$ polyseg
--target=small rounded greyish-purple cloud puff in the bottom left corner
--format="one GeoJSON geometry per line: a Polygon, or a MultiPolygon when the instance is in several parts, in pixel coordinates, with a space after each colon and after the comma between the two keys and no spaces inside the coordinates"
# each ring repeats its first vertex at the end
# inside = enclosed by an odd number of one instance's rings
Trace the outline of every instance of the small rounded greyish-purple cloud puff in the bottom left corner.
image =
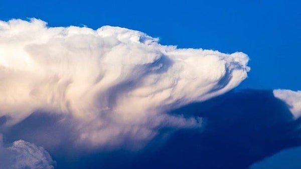
{"type": "Polygon", "coordinates": [[[24,140],[14,141],[12,146],[0,144],[0,168],[5,169],[53,169],[55,161],[43,148],[24,140]]]}

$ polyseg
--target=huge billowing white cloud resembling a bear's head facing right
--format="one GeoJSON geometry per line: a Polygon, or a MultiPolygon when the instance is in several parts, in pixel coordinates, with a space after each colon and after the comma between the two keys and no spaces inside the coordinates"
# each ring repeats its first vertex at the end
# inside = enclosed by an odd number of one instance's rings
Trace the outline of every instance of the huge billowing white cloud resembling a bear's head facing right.
{"type": "Polygon", "coordinates": [[[0,116],[13,125],[34,111],[66,114],[93,145],[148,140],[161,126],[199,126],[166,112],[233,89],[247,63],[241,52],[177,49],[119,27],[0,22],[0,116]]]}

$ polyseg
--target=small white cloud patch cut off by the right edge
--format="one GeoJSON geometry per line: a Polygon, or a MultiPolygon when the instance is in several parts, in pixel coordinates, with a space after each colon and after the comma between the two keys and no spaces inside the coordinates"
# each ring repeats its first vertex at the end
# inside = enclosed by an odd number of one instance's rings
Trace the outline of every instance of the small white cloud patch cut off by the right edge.
{"type": "Polygon", "coordinates": [[[301,91],[277,89],[273,90],[274,96],[289,105],[289,109],[295,118],[301,116],[301,91]]]}

